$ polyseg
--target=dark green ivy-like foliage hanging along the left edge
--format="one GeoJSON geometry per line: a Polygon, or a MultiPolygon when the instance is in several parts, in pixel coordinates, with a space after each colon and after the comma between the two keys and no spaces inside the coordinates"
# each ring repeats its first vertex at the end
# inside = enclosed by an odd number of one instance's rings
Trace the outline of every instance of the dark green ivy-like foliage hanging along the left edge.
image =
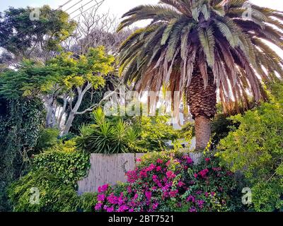
{"type": "Polygon", "coordinates": [[[0,212],[10,209],[6,187],[25,172],[45,119],[44,107],[37,98],[3,98],[1,102],[0,212]]]}

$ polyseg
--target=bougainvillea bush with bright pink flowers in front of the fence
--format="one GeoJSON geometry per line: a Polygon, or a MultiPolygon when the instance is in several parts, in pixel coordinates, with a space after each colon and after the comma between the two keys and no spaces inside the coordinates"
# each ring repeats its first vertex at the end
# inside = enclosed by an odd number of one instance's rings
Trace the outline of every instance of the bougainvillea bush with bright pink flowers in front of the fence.
{"type": "Polygon", "coordinates": [[[144,155],[127,172],[128,182],[98,188],[95,211],[216,212],[238,210],[241,198],[234,174],[206,155],[194,165],[187,153],[144,155]]]}

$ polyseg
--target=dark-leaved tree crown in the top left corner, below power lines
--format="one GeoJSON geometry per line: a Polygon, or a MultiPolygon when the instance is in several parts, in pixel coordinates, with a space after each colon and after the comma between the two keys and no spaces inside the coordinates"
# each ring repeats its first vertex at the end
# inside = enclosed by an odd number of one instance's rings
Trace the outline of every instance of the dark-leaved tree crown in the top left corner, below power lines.
{"type": "MultiPolygon", "coordinates": [[[[50,6],[39,8],[37,20],[31,20],[35,8],[8,8],[0,13],[0,47],[11,54],[13,63],[37,58],[45,61],[62,49],[76,28],[68,13],[50,6]]],[[[10,61],[11,62],[11,61],[10,61]]]]}

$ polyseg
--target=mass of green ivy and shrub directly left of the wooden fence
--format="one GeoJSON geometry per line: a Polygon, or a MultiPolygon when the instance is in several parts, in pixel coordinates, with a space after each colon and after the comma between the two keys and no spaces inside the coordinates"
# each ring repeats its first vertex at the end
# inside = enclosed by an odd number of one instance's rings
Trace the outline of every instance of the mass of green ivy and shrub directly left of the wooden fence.
{"type": "Polygon", "coordinates": [[[89,154],[75,150],[74,141],[59,143],[35,155],[31,171],[11,184],[8,196],[15,211],[75,211],[77,181],[90,167],[89,154]],[[40,203],[30,204],[30,189],[40,191],[40,203]]]}

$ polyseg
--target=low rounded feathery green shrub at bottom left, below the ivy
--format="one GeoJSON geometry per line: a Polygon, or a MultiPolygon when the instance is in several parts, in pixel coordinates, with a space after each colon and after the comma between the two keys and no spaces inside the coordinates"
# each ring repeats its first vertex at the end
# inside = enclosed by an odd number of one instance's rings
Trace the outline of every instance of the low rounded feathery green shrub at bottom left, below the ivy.
{"type": "Polygon", "coordinates": [[[61,179],[46,169],[37,169],[21,177],[8,189],[8,197],[16,212],[74,212],[78,196],[71,184],[63,184],[61,179]],[[39,203],[30,202],[38,189],[39,203]]]}

